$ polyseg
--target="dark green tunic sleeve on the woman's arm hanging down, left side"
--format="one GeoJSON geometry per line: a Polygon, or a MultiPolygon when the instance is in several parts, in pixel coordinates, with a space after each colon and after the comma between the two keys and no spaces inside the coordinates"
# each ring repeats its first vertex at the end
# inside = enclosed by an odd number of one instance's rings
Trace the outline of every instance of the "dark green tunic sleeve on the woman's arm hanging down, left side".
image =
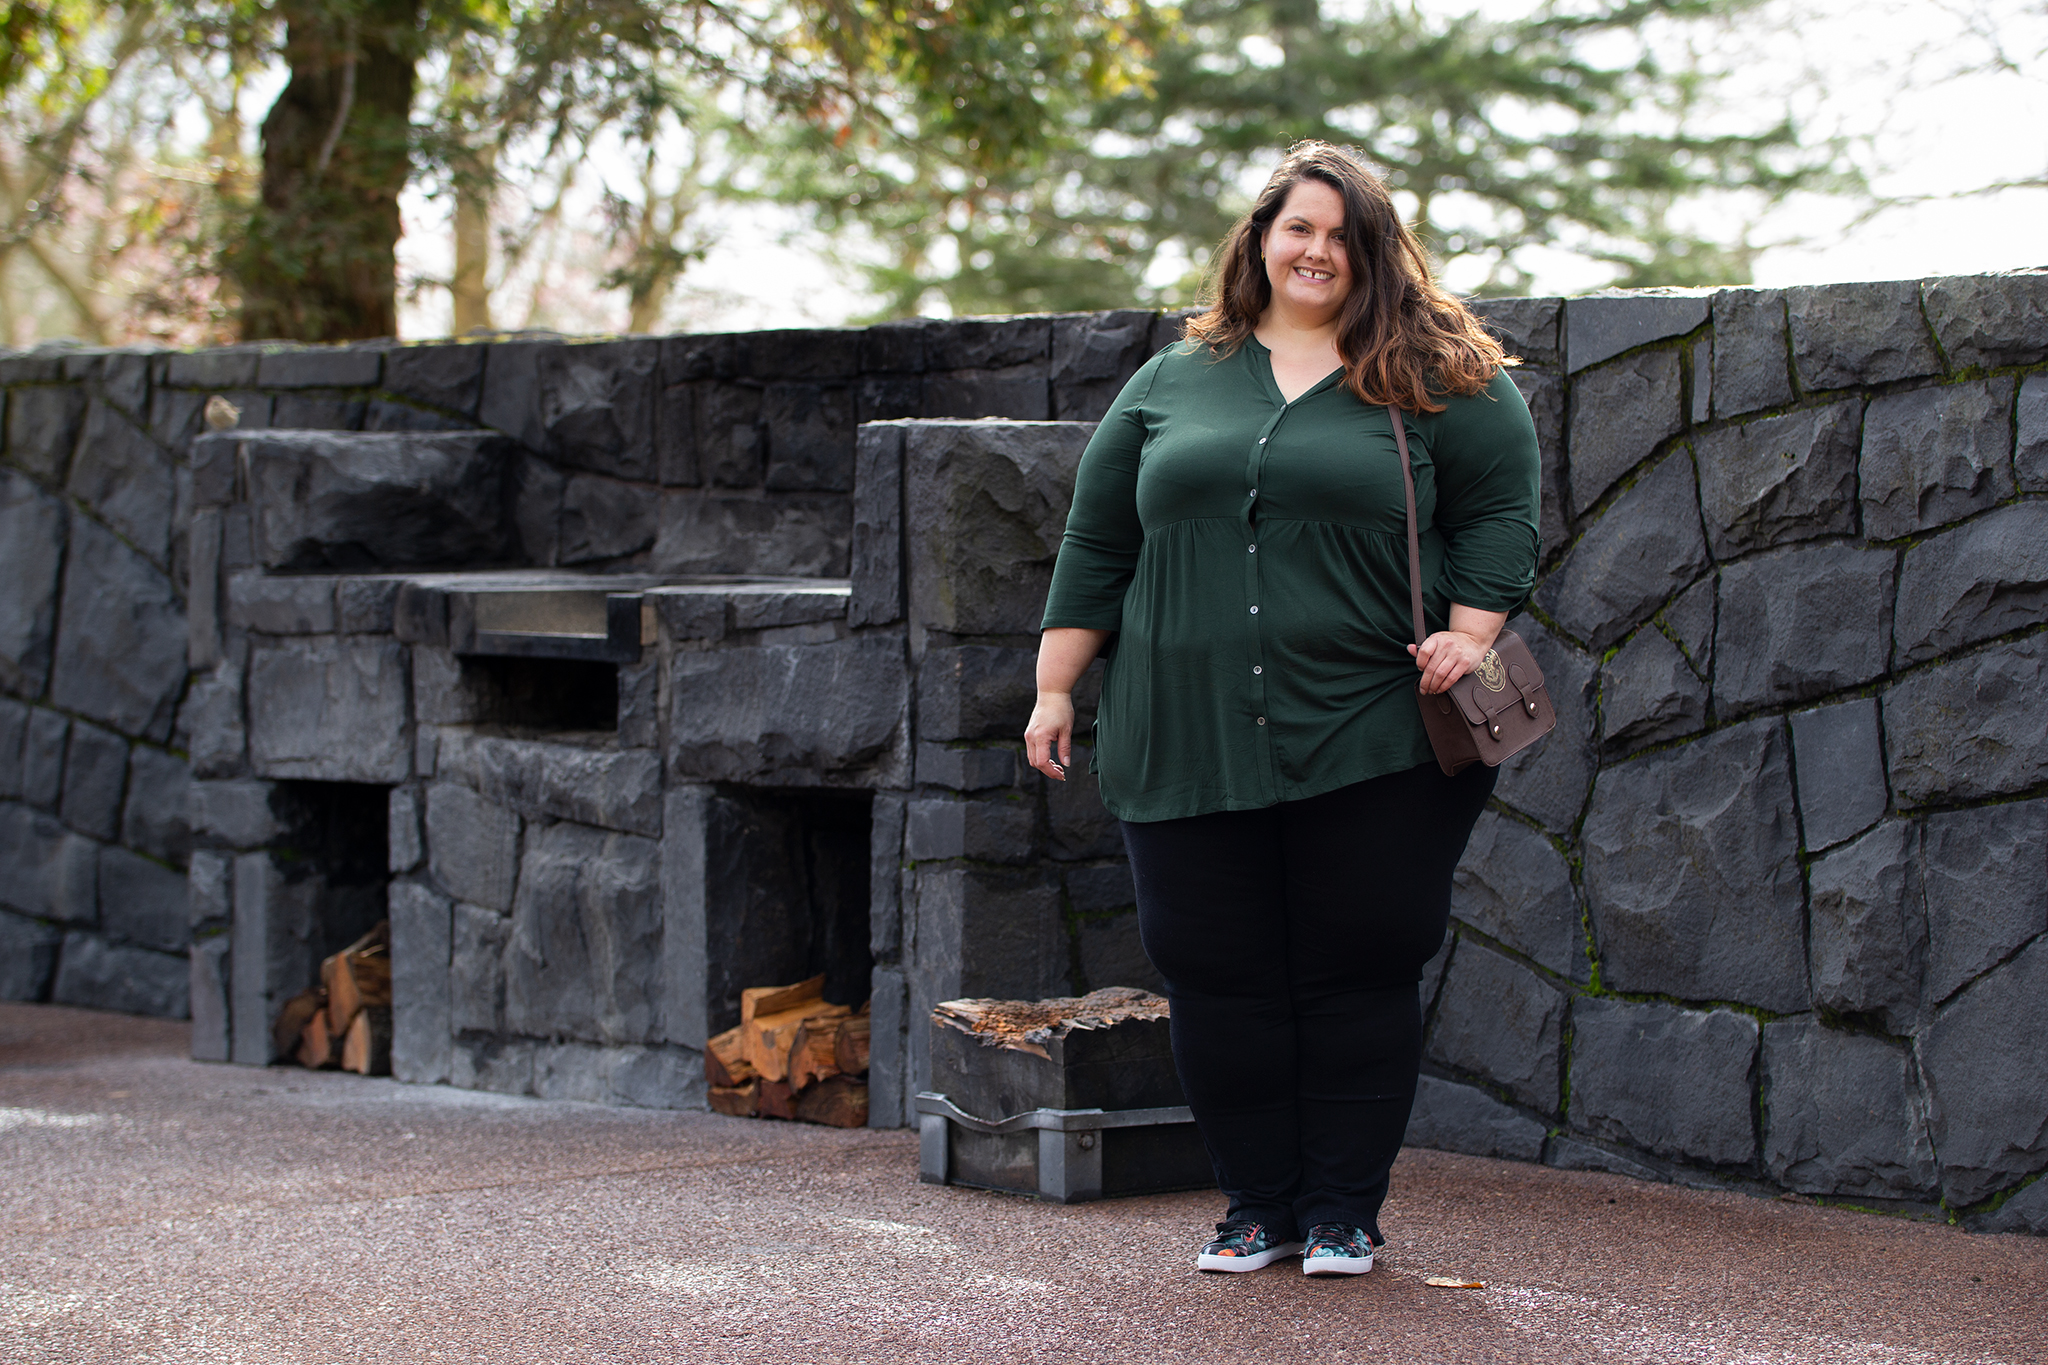
{"type": "Polygon", "coordinates": [[[1157,372],[1159,356],[1153,356],[1116,395],[1081,452],[1040,630],[1122,628],[1124,589],[1145,546],[1137,499],[1139,454],[1145,448],[1145,397],[1157,372]]]}

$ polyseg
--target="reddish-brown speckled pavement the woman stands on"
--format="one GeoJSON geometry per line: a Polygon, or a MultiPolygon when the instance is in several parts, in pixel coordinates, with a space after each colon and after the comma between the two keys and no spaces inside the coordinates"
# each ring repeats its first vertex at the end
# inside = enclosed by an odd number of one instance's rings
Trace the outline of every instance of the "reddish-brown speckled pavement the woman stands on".
{"type": "Polygon", "coordinates": [[[1198,1275],[1214,1195],[182,1052],[0,1005],[0,1361],[2048,1361],[2038,1238],[1411,1150],[1372,1275],[1198,1275]]]}

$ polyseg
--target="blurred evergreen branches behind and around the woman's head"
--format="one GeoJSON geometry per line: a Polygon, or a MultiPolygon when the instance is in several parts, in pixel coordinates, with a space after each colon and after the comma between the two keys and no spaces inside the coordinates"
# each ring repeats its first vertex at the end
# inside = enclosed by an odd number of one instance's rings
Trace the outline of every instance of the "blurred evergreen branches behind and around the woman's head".
{"type": "Polygon", "coordinates": [[[1700,131],[1712,82],[1651,39],[1749,0],[1595,0],[1526,18],[1315,0],[1188,0],[1151,82],[1075,92],[1008,170],[944,121],[866,123],[780,147],[778,188],[827,227],[895,248],[887,313],[1182,305],[1206,252],[1303,137],[1362,145],[1440,260],[1485,293],[1530,280],[1534,248],[1612,266],[1618,284],[1745,280],[1751,248],[1673,223],[1698,194],[1759,203],[1825,180],[1786,121],[1700,131]]]}

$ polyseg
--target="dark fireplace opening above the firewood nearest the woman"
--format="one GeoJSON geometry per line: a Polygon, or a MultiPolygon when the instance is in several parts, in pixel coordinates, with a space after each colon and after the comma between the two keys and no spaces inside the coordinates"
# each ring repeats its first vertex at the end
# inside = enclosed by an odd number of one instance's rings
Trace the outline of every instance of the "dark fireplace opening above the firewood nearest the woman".
{"type": "Polygon", "coordinates": [[[711,1031],[739,1023],[748,986],[823,976],[823,999],[868,999],[868,792],[719,788],[705,827],[711,1031]]]}

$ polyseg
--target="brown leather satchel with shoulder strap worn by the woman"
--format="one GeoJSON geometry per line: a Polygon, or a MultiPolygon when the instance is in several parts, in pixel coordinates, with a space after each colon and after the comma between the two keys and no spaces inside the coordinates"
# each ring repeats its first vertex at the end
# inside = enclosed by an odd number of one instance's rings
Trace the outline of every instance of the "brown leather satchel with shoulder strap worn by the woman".
{"type": "MultiPolygon", "coordinates": [[[[1401,487],[1409,503],[1409,608],[1415,612],[1415,647],[1421,649],[1427,632],[1421,620],[1415,471],[1407,458],[1407,424],[1401,422],[1401,409],[1389,405],[1386,417],[1395,424],[1395,444],[1401,446],[1401,487]]],[[[1522,753],[1556,729],[1542,669],[1513,630],[1501,630],[1479,667],[1450,684],[1446,692],[1423,696],[1421,684],[1415,684],[1415,702],[1421,706],[1421,726],[1430,733],[1436,763],[1446,774],[1456,774],[1475,761],[1499,767],[1501,759],[1522,753]]]]}

